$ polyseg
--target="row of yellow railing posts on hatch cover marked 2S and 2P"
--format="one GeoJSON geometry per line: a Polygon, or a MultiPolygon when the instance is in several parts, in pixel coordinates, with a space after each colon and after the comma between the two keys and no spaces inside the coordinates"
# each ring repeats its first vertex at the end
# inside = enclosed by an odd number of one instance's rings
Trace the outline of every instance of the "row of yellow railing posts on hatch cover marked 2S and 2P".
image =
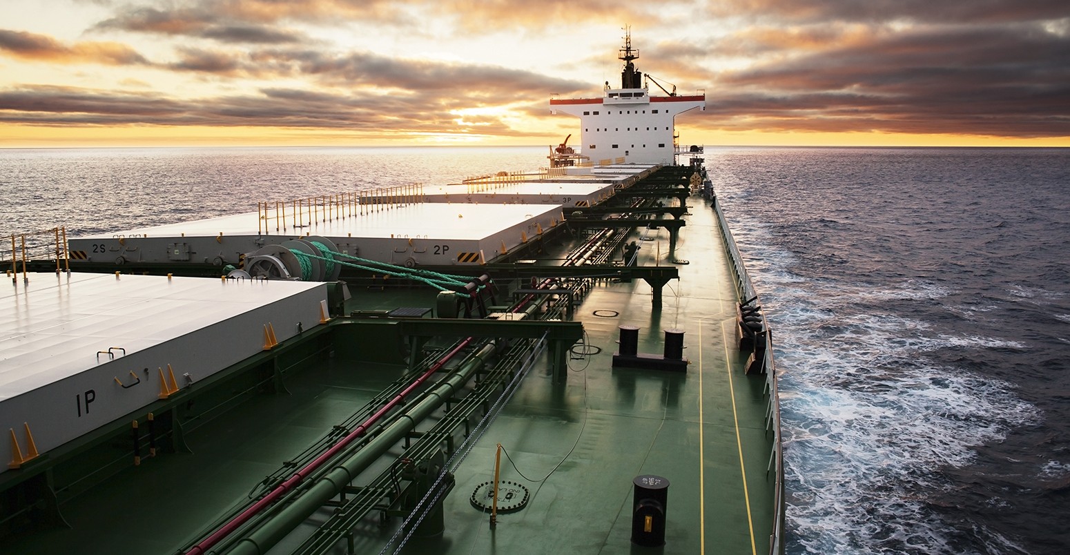
{"type": "Polygon", "coordinates": [[[258,202],[257,231],[268,234],[274,227],[276,233],[285,233],[291,228],[296,230],[317,222],[361,216],[424,201],[424,184],[412,183],[303,199],[258,202]]]}

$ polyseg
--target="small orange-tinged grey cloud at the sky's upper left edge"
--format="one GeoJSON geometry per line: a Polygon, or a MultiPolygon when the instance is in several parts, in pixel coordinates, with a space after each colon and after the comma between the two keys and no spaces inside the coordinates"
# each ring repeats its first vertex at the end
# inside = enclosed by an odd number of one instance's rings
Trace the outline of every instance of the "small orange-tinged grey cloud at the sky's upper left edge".
{"type": "Polygon", "coordinates": [[[0,29],[0,52],[24,60],[57,63],[149,63],[133,48],[119,43],[82,42],[67,46],[48,35],[6,29],[0,29]]]}

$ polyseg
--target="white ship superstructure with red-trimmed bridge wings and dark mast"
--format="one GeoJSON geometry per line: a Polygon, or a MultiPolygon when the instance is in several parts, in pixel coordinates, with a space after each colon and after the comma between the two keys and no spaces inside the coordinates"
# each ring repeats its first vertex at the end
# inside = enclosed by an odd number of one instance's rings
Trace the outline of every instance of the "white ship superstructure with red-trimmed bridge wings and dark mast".
{"type": "MultiPolygon", "coordinates": [[[[639,50],[625,36],[620,59],[625,62],[621,88],[610,89],[601,98],[553,98],[550,113],[580,118],[581,151],[595,164],[625,163],[672,164],[676,152],[674,120],[677,113],[694,108],[706,109],[702,95],[651,96],[642,83],[642,74],[632,63],[639,50]]],[[[659,86],[660,87],[660,86],[659,86]]]]}

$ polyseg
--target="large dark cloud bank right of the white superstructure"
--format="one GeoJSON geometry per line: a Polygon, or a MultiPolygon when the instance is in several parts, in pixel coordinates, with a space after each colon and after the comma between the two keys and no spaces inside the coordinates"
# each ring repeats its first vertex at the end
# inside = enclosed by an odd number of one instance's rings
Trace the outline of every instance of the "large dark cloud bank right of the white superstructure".
{"type": "Polygon", "coordinates": [[[792,48],[722,72],[724,128],[1070,136],[1070,40],[1038,26],[928,27],[792,48]]]}

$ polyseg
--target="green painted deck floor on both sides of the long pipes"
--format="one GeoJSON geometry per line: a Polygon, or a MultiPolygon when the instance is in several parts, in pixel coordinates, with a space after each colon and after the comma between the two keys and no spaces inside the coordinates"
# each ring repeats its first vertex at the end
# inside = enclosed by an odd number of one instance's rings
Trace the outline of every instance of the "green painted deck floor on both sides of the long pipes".
{"type": "MultiPolygon", "coordinates": [[[[667,286],[663,307],[652,309],[642,280],[596,284],[575,318],[598,352],[569,359],[563,385],[539,363],[456,472],[445,533],[414,539],[403,553],[768,551],[775,476],[767,472],[765,377],[743,373],[746,354],[734,348],[737,294],[721,233],[708,204],[690,202],[676,252],[690,263],[667,286]],[[687,371],[613,368],[621,325],[641,328],[640,353],[661,353],[663,330],[684,330],[687,371]],[[492,528],[469,497],[493,479],[496,444],[523,473],[503,457],[501,479],[526,485],[532,497],[522,510],[499,514],[492,528]],[[632,479],[644,474],[671,483],[660,549],[629,541],[632,479]]],[[[640,242],[639,264],[670,264],[668,231],[640,231],[653,241],[640,242]]],[[[415,291],[358,290],[351,303],[393,309],[431,302],[415,291]]],[[[189,431],[193,453],[127,467],[72,496],[62,506],[70,528],[9,538],[4,551],[172,553],[403,371],[341,357],[314,365],[288,379],[290,395],[253,397],[189,431]]],[[[396,525],[358,528],[356,551],[379,553],[396,525]]],[[[272,553],[288,552],[307,531],[299,528],[272,553]]],[[[334,552],[346,553],[345,542],[334,552]]]]}

